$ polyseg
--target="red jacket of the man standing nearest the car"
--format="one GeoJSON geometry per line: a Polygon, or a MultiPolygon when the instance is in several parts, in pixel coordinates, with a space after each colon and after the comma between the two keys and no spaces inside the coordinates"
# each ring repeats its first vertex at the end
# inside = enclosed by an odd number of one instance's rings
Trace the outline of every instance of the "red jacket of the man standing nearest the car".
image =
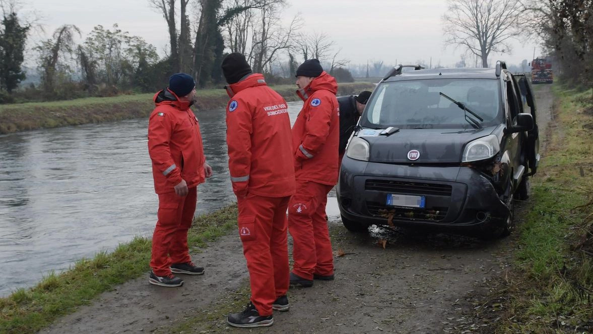
{"type": "Polygon", "coordinates": [[[305,101],[292,127],[297,179],[337,183],[340,109],[336,79],[325,71],[297,94],[305,101]]]}

